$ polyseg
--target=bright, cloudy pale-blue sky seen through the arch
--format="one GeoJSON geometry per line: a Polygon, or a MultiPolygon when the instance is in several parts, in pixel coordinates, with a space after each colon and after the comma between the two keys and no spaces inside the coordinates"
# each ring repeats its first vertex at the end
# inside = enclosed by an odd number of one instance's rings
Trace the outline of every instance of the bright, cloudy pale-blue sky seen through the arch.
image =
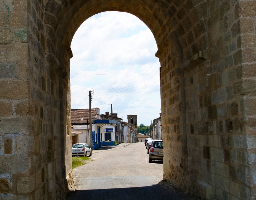
{"type": "Polygon", "coordinates": [[[159,59],[150,29],[136,16],[104,12],[88,18],[76,31],[70,59],[71,109],[118,113],[127,121],[149,125],[160,117],[159,59]]]}

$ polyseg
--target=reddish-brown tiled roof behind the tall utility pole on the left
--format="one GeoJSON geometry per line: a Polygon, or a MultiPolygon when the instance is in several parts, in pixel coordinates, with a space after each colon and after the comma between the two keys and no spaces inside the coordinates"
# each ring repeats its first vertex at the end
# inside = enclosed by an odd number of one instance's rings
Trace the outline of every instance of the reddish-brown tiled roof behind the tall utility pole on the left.
{"type": "MultiPolygon", "coordinates": [[[[92,123],[96,116],[96,108],[92,108],[92,123]]],[[[89,123],[89,109],[71,109],[71,123],[72,124],[87,124],[89,123]]]]}

